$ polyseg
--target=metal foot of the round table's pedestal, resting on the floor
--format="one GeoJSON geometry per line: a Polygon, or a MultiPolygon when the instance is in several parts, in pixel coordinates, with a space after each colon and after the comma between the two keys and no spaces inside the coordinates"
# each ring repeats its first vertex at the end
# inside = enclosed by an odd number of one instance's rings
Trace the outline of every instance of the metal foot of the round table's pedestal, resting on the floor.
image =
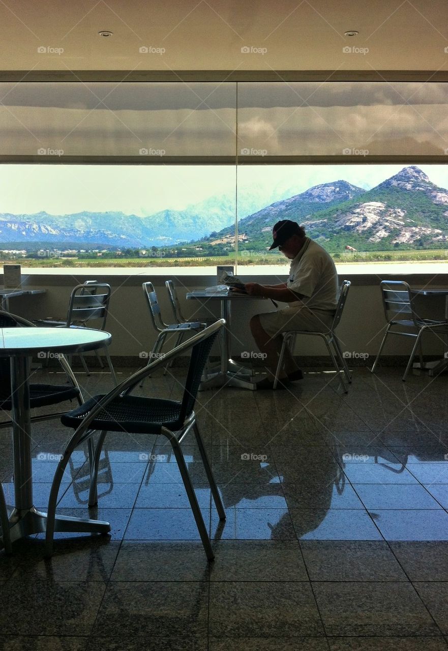
{"type": "MultiPolygon", "coordinates": [[[[38,511],[34,506],[27,510],[14,508],[9,517],[9,534],[11,542],[33,536],[36,533],[45,533],[47,514],[38,511]]],[[[102,520],[91,520],[85,518],[70,518],[70,516],[56,516],[55,531],[73,533],[108,533],[111,525],[102,520]]],[[[0,538],[0,547],[3,546],[3,538],[0,538]]]]}

